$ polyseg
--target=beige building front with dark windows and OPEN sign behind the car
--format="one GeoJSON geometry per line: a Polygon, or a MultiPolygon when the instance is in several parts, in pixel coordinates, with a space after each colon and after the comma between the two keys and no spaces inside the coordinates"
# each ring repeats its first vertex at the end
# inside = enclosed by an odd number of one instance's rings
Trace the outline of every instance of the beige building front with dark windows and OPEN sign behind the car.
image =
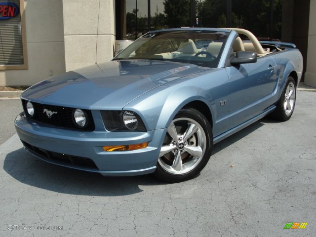
{"type": "Polygon", "coordinates": [[[193,26],[244,27],[295,43],[305,83],[316,87],[315,9],[316,0],[0,0],[0,86],[33,85],[109,61],[115,40],[193,26]],[[245,11],[250,2],[257,4],[245,11]]]}

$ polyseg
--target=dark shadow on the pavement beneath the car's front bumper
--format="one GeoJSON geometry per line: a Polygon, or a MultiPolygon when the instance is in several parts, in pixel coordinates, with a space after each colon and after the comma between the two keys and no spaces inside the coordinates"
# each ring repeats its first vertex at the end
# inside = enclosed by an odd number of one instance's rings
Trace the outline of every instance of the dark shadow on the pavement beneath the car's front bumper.
{"type": "Polygon", "coordinates": [[[142,192],[141,185],[165,185],[151,174],[104,177],[53,165],[29,154],[24,148],[8,153],[3,169],[21,183],[50,191],[87,196],[124,196],[142,192]]]}

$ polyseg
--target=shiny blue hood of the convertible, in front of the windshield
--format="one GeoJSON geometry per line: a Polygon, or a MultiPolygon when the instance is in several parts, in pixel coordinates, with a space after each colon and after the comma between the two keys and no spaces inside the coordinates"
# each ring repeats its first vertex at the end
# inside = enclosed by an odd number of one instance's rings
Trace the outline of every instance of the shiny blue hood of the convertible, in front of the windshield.
{"type": "Polygon", "coordinates": [[[110,61],[51,77],[28,88],[21,97],[57,106],[121,109],[153,88],[206,69],[166,61],[110,61]]]}

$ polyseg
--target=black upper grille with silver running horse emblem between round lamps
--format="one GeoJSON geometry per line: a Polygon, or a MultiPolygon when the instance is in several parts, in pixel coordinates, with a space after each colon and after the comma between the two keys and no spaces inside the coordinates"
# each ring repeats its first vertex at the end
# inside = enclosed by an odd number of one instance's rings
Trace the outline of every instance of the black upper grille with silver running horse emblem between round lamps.
{"type": "MultiPolygon", "coordinates": [[[[26,103],[27,100],[22,100],[24,112],[30,118],[27,113],[26,103]]],[[[31,119],[34,119],[35,121],[72,130],[94,130],[94,122],[90,110],[83,110],[87,114],[87,125],[84,128],[80,128],[79,126],[76,126],[73,120],[73,112],[76,108],[44,105],[35,102],[32,102],[32,104],[34,107],[34,116],[31,119]]]]}

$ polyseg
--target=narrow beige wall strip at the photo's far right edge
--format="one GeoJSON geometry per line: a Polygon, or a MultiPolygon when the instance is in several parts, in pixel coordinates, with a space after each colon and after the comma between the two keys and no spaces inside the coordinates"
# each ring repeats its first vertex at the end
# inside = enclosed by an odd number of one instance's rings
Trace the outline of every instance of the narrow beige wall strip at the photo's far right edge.
{"type": "Polygon", "coordinates": [[[316,0],[310,2],[307,68],[304,83],[316,88],[316,0]]]}

